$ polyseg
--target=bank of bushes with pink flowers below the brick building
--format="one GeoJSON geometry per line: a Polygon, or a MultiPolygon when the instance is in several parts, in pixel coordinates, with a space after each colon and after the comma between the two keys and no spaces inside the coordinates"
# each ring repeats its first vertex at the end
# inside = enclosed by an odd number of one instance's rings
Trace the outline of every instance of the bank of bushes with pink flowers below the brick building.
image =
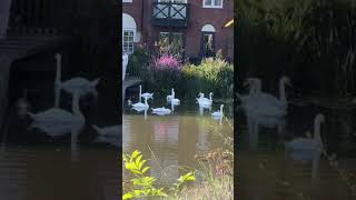
{"type": "Polygon", "coordinates": [[[233,99],[234,66],[218,52],[199,64],[179,59],[179,56],[154,56],[145,47],[130,56],[128,73],[140,77],[145,90],[167,96],[175,88],[179,98],[194,98],[199,92],[212,92],[216,98],[233,99]]]}

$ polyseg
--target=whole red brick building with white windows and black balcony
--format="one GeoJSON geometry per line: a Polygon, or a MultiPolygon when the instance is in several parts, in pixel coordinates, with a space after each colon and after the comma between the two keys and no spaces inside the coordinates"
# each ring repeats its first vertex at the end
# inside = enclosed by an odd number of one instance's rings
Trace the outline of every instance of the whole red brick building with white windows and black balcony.
{"type": "Polygon", "coordinates": [[[122,0],[122,48],[131,53],[139,43],[184,49],[190,59],[222,50],[233,61],[234,0],[122,0]]]}

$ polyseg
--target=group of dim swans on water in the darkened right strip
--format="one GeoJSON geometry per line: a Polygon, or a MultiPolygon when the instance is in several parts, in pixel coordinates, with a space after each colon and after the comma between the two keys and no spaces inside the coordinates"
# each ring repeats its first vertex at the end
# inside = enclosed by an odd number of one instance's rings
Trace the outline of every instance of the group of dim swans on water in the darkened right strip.
{"type": "MultiPolygon", "coordinates": [[[[284,119],[288,107],[285,84],[290,84],[287,77],[279,79],[279,99],[269,93],[261,92],[261,81],[258,78],[249,78],[244,84],[249,84],[249,93],[246,96],[238,94],[238,98],[241,101],[241,107],[247,113],[250,113],[248,118],[257,119],[258,122],[260,122],[260,119],[264,119],[268,121],[268,124],[275,124],[276,121],[284,119]]],[[[285,142],[286,154],[293,160],[313,161],[313,178],[316,177],[317,162],[324,149],[320,136],[320,126],[324,121],[324,114],[316,114],[314,119],[314,138],[295,138],[291,141],[285,142]]]]}

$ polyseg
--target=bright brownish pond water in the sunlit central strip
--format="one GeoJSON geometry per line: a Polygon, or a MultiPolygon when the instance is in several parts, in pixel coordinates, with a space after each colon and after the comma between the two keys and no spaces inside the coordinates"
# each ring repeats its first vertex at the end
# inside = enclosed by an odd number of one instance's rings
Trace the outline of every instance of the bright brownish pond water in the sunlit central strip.
{"type": "MultiPolygon", "coordinates": [[[[132,100],[137,102],[138,98],[132,100]]],[[[151,108],[171,108],[166,98],[156,98],[148,102],[151,108]]],[[[220,103],[212,104],[212,111],[220,103]]],[[[215,120],[209,110],[201,113],[195,100],[181,100],[168,116],[157,116],[151,110],[137,112],[126,106],[122,116],[122,151],[142,152],[151,167],[148,174],[156,177],[161,184],[176,182],[186,170],[179,167],[197,168],[196,154],[222,147],[224,137],[233,137],[233,107],[225,104],[224,113],[227,120],[215,120]],[[211,128],[216,128],[211,131],[211,128]],[[221,133],[221,136],[216,132],[221,133]]],[[[123,172],[123,177],[126,173],[123,172]]]]}

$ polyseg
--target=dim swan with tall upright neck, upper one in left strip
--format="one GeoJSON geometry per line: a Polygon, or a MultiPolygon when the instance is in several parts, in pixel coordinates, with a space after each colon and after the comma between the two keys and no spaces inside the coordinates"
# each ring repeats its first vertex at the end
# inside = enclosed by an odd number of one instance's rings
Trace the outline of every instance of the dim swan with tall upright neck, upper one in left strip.
{"type": "MultiPolygon", "coordinates": [[[[55,80],[55,91],[56,88],[63,89],[66,92],[73,94],[76,90],[79,90],[79,96],[83,97],[89,93],[97,96],[96,87],[98,86],[100,78],[95,79],[93,81],[89,81],[85,78],[78,77],[67,81],[61,81],[61,54],[56,54],[57,61],[57,72],[56,72],[56,80],[55,80]]],[[[60,90],[59,90],[60,92],[60,90]]],[[[59,106],[59,98],[58,93],[56,93],[56,106],[59,106]]]]}

